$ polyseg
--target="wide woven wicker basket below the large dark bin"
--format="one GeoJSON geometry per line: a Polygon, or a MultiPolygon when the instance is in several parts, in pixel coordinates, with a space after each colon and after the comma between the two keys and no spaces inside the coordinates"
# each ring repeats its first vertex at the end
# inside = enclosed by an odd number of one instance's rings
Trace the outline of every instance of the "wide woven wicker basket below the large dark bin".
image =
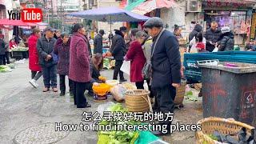
{"type": "Polygon", "coordinates": [[[209,134],[213,134],[214,131],[218,131],[221,134],[237,134],[242,127],[246,128],[246,132],[249,134],[254,133],[254,127],[249,126],[242,122],[234,121],[234,119],[225,118],[204,118],[198,122],[201,125],[202,130],[195,133],[197,144],[215,144],[218,143],[214,139],[210,138],[209,134]]]}

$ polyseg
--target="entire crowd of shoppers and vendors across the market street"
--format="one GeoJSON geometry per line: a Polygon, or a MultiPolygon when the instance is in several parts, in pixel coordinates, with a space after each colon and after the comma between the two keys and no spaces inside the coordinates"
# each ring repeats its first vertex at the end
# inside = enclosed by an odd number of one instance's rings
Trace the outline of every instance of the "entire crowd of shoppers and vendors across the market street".
{"type": "MultiPolygon", "coordinates": [[[[214,50],[226,51],[234,49],[234,32],[228,26],[221,29],[217,22],[211,22],[210,29],[202,32],[202,26],[196,24],[189,35],[189,52],[212,52],[214,50]]],[[[179,52],[178,38],[182,38],[182,28],[175,26],[174,33],[166,30],[161,18],[150,18],[144,24],[144,30],[130,30],[130,42],[126,42],[127,28],[122,26],[110,35],[110,53],[114,57],[115,66],[113,79],[126,82],[121,70],[124,61],[130,61],[130,82],[135,82],[138,89],[144,89],[146,80],[150,98],[154,100],[154,110],[163,113],[174,112],[174,98],[176,88],[180,86],[182,78],[182,63],[179,52]]],[[[74,97],[77,108],[90,107],[85,91],[93,95],[92,86],[98,85],[100,71],[102,70],[102,37],[104,30],[99,30],[90,42],[85,27],[76,23],[72,26],[70,34],[46,27],[41,34],[37,28],[28,38],[29,68],[31,70],[30,84],[38,88],[37,81],[43,77],[43,92],[56,93],[57,78],[59,77],[60,96],[66,94],[66,77],[68,77],[70,95],[74,97]],[[90,49],[94,45],[94,51],[90,49]]],[[[15,46],[3,41],[0,35],[0,65],[6,55],[6,47],[15,46]]],[[[247,50],[256,50],[255,42],[248,42],[247,50]]],[[[170,128],[168,119],[160,122],[170,128]]],[[[154,131],[154,134],[162,134],[154,131]]]]}

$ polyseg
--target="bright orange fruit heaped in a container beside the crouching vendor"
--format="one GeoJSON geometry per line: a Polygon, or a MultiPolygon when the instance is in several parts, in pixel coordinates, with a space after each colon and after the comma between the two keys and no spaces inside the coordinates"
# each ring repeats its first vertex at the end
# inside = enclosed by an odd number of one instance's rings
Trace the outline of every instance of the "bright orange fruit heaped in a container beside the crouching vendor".
{"type": "Polygon", "coordinates": [[[110,86],[106,83],[100,83],[98,86],[93,86],[94,99],[106,100],[107,94],[110,92],[110,86]]]}

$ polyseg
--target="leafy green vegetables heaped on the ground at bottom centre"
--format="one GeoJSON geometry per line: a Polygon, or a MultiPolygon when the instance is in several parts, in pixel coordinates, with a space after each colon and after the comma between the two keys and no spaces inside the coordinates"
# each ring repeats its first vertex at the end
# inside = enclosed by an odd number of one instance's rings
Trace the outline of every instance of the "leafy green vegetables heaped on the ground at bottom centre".
{"type": "MultiPolygon", "coordinates": [[[[110,106],[108,108],[111,112],[127,112],[125,108],[123,108],[122,104],[117,103],[113,106],[110,106]]],[[[127,124],[135,124],[136,122],[117,122],[118,125],[123,125],[124,123],[127,124]]],[[[111,126],[114,125],[114,121],[106,121],[102,120],[102,122],[99,123],[100,125],[108,125],[111,124],[111,126]]],[[[114,126],[113,126],[114,127],[114,126]]],[[[98,131],[98,144],[134,144],[134,142],[137,140],[139,136],[138,131],[114,131],[112,127],[111,131],[98,131]]]]}

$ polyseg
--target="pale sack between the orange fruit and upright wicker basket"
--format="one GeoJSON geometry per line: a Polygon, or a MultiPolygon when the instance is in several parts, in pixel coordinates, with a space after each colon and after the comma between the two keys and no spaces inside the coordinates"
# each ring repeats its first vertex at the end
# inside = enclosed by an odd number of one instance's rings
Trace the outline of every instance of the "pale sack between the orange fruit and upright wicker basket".
{"type": "Polygon", "coordinates": [[[133,84],[126,82],[126,83],[122,83],[120,85],[114,86],[111,88],[110,92],[113,96],[113,98],[117,101],[117,102],[122,102],[123,100],[125,100],[125,95],[126,92],[129,90],[136,90],[136,86],[134,86],[133,84]]]}

